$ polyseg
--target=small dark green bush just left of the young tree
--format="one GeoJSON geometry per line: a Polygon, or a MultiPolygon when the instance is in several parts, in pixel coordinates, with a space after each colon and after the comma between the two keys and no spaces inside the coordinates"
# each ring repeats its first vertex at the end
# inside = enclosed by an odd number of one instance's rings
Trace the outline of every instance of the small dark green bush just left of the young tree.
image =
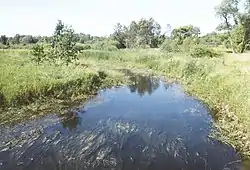
{"type": "Polygon", "coordinates": [[[44,47],[42,45],[35,45],[32,48],[32,61],[35,61],[37,64],[40,64],[42,61],[44,61],[46,58],[45,52],[44,52],[44,47]]]}

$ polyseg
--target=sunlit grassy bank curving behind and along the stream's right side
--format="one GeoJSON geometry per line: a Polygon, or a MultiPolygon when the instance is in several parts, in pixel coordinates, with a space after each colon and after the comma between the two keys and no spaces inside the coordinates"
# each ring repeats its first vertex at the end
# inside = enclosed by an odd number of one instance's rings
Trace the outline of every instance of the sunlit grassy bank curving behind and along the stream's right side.
{"type": "Polygon", "coordinates": [[[224,54],[219,58],[192,58],[158,50],[86,51],[89,64],[110,68],[145,69],[179,81],[188,93],[206,103],[219,138],[250,157],[250,57],[224,54]],[[91,58],[91,60],[90,60],[91,58]]]}

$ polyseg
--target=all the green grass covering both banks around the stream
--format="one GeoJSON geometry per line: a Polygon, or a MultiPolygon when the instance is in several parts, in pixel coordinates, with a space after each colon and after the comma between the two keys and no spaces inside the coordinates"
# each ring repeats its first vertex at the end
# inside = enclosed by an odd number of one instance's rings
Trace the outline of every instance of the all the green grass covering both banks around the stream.
{"type": "MultiPolygon", "coordinates": [[[[29,55],[28,51],[0,52],[0,101],[5,108],[30,106],[37,100],[83,98],[104,85],[122,82],[119,69],[147,71],[179,81],[188,93],[208,104],[221,140],[250,157],[250,54],[192,58],[158,49],[89,50],[69,67],[36,66],[29,55]]],[[[5,123],[27,113],[5,110],[0,115],[5,123]]]]}

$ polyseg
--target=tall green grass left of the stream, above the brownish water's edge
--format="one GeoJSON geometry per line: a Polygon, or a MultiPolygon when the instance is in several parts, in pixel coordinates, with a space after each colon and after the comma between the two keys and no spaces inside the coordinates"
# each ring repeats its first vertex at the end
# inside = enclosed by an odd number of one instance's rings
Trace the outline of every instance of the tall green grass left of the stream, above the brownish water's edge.
{"type": "Polygon", "coordinates": [[[70,99],[89,95],[105,76],[85,65],[54,66],[30,62],[28,51],[0,53],[0,100],[2,106],[20,106],[43,98],[70,99]]]}

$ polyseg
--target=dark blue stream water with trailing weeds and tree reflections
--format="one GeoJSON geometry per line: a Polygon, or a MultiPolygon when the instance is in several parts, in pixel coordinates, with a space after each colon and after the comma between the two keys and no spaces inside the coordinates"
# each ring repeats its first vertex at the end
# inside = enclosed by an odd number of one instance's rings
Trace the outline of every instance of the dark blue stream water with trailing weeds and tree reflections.
{"type": "Polygon", "coordinates": [[[207,109],[179,85],[130,80],[133,85],[101,91],[81,110],[1,127],[0,169],[250,169],[208,137],[207,109]]]}

